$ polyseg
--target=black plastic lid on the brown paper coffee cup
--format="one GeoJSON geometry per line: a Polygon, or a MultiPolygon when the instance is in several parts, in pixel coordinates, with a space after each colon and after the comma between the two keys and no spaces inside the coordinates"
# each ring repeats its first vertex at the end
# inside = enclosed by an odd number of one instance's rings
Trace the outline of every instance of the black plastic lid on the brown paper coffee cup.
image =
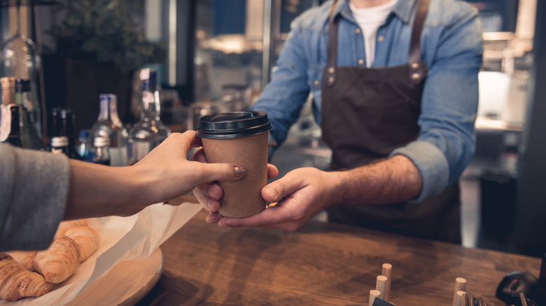
{"type": "Polygon", "coordinates": [[[197,136],[230,139],[253,136],[271,129],[265,112],[221,112],[199,119],[197,136]]]}

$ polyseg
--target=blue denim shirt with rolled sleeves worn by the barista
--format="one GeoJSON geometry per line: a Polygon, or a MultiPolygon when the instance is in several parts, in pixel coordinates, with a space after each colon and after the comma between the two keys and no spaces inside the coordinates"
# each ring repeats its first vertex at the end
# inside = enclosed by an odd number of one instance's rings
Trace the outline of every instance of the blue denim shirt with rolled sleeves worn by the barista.
{"type": "MultiPolygon", "coordinates": [[[[364,40],[351,15],[349,0],[339,0],[337,66],[365,66],[364,40]]],[[[332,1],[302,13],[290,34],[253,110],[267,112],[279,145],[297,121],[309,93],[314,116],[321,122],[321,82],[328,44],[332,1]]],[[[372,67],[407,64],[416,0],[399,0],[377,32],[372,67]]],[[[478,71],[482,66],[482,26],[477,10],[458,0],[430,0],[421,54],[428,78],[421,101],[418,138],[391,153],[413,161],[423,178],[415,202],[439,194],[458,180],[475,149],[478,71]]]]}

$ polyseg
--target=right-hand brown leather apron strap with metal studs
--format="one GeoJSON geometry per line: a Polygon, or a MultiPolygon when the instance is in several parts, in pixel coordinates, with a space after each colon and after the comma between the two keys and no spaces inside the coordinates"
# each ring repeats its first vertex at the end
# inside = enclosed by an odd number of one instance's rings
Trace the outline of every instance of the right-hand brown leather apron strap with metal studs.
{"type": "Polygon", "coordinates": [[[421,32],[429,2],[430,0],[418,0],[413,22],[412,40],[409,45],[409,80],[414,84],[419,84],[426,77],[426,65],[421,62],[421,32]]]}

